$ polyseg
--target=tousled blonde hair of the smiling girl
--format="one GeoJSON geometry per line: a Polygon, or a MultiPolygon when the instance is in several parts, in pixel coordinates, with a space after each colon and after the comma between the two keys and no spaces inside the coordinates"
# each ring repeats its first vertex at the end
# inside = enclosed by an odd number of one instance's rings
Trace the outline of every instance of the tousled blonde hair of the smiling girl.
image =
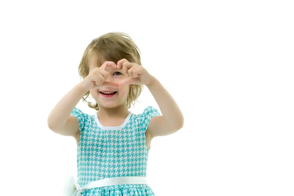
{"type": "MultiPolygon", "coordinates": [[[[141,65],[140,50],[130,36],[122,32],[106,33],[92,40],[92,42],[85,49],[81,62],[78,66],[78,72],[82,78],[85,78],[89,74],[89,57],[92,55],[97,56],[98,67],[104,63],[99,60],[101,56],[103,56],[106,61],[113,61],[114,63],[117,63],[119,60],[125,58],[131,63],[141,65]]],[[[130,108],[132,104],[135,104],[137,98],[141,95],[142,90],[142,85],[130,85],[126,102],[127,108],[130,108]]],[[[85,97],[82,98],[83,101],[87,102],[89,107],[98,110],[98,103],[93,104],[86,100],[89,95],[90,91],[84,95],[85,97]]]]}

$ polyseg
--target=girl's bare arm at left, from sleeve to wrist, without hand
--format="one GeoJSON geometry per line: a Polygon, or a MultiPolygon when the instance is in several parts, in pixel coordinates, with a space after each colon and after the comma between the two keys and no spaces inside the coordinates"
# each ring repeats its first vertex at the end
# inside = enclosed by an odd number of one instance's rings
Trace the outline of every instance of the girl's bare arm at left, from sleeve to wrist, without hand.
{"type": "Polygon", "coordinates": [[[53,108],[48,117],[48,127],[53,132],[76,137],[79,133],[79,122],[70,116],[76,104],[85,94],[81,85],[76,85],[53,108]]]}

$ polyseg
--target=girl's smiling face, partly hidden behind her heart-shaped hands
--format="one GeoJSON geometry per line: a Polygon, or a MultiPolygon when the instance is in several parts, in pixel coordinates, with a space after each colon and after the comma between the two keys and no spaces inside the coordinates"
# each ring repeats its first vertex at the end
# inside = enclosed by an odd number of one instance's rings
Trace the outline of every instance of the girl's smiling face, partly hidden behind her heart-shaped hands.
{"type": "MultiPolygon", "coordinates": [[[[95,67],[90,66],[89,72],[91,72],[94,68],[95,67]]],[[[114,83],[119,83],[121,80],[129,76],[128,74],[123,74],[122,69],[107,67],[106,71],[109,73],[107,81],[114,83]]],[[[120,106],[126,106],[129,88],[129,85],[124,85],[119,88],[112,88],[102,85],[97,90],[91,90],[90,94],[96,100],[99,107],[116,108],[120,106]]]]}

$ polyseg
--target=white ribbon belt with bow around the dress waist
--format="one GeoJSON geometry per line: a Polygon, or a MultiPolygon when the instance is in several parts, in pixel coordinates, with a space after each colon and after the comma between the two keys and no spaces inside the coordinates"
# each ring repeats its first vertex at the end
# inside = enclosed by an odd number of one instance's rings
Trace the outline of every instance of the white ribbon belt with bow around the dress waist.
{"type": "Polygon", "coordinates": [[[113,177],[92,181],[80,187],[78,182],[74,183],[73,177],[69,177],[66,182],[64,196],[81,196],[84,190],[123,184],[147,184],[147,180],[145,176],[113,177]]]}

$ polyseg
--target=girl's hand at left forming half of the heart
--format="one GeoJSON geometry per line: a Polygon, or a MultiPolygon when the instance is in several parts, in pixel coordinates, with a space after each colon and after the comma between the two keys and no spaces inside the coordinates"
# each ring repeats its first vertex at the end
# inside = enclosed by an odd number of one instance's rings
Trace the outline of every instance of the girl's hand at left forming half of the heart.
{"type": "Polygon", "coordinates": [[[96,67],[91,73],[85,77],[85,79],[80,83],[86,91],[95,90],[101,86],[117,88],[118,84],[114,82],[106,81],[109,72],[106,71],[107,67],[113,67],[117,69],[117,65],[111,61],[105,61],[101,67],[96,67]]]}

